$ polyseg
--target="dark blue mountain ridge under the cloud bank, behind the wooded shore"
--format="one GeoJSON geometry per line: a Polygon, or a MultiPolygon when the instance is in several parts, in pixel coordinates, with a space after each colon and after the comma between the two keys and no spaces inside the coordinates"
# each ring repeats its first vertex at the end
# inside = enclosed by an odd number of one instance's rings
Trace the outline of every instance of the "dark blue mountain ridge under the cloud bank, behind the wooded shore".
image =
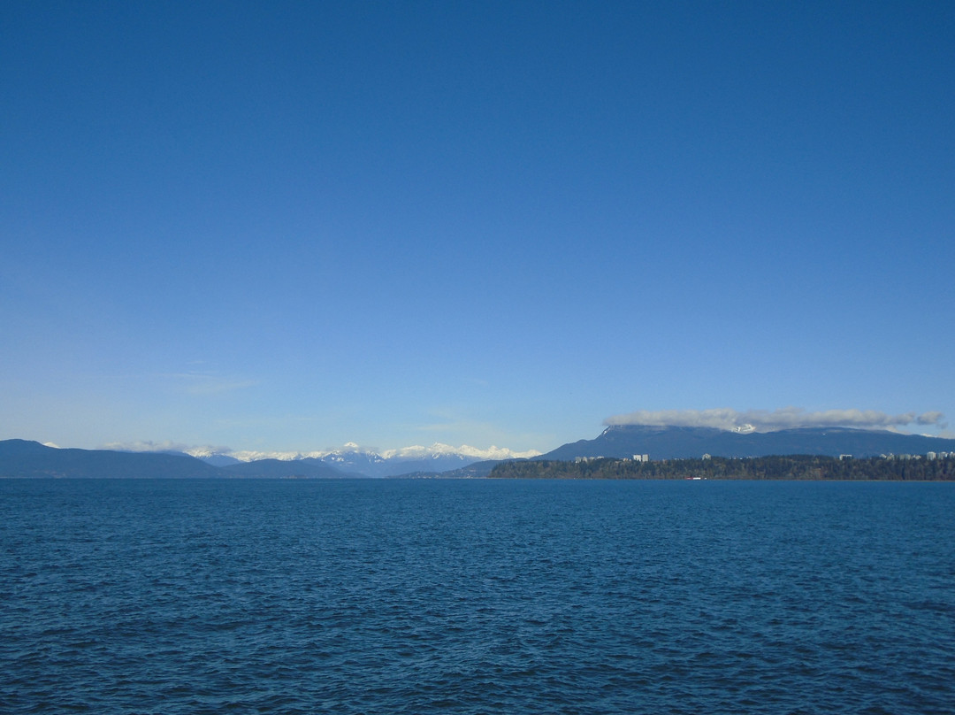
{"type": "Polygon", "coordinates": [[[715,427],[614,425],[593,440],[562,444],[536,460],[578,457],[632,457],[650,460],[713,457],[820,455],[878,457],[881,454],[925,454],[955,451],[955,440],[849,427],[802,427],[775,432],[729,431],[715,427]]]}

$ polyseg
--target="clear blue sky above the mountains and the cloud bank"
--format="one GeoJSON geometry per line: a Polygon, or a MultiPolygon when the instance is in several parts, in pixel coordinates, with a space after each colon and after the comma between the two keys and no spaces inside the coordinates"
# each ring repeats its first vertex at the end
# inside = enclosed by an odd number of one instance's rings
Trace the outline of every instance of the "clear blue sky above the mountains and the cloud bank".
{"type": "Polygon", "coordinates": [[[950,433],[953,98],[953,3],[7,0],[0,439],[950,433]]]}

